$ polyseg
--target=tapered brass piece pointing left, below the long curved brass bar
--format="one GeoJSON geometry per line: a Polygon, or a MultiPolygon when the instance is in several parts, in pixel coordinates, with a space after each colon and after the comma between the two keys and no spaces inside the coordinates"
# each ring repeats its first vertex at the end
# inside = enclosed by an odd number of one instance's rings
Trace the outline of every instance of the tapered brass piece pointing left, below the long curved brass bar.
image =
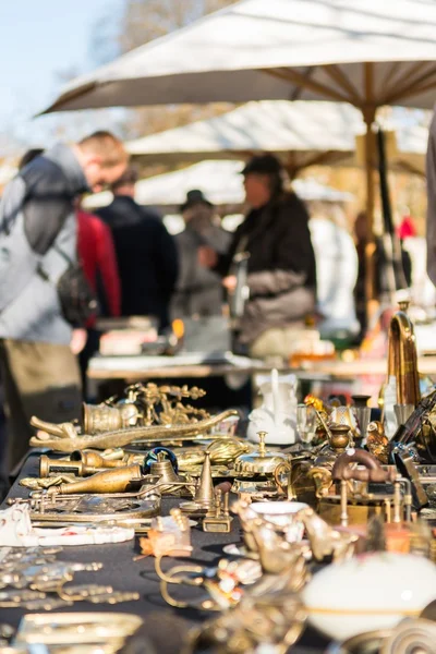
{"type": "Polygon", "coordinates": [[[133,480],[141,480],[142,476],[141,465],[133,463],[125,468],[97,472],[86,480],[73,482],[72,484],[51,486],[51,488],[48,489],[48,493],[57,493],[59,495],[76,495],[77,493],[122,493],[129,488],[133,480]]]}

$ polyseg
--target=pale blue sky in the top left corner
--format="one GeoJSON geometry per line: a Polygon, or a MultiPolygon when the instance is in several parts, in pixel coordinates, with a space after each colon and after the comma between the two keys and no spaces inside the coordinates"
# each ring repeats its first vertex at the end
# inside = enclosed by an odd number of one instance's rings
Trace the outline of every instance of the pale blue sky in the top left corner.
{"type": "Polygon", "coordinates": [[[56,72],[95,68],[93,26],[109,12],[116,25],[120,7],[121,0],[0,0],[0,132],[27,138],[47,130],[49,118],[29,118],[59,89],[56,72]]]}

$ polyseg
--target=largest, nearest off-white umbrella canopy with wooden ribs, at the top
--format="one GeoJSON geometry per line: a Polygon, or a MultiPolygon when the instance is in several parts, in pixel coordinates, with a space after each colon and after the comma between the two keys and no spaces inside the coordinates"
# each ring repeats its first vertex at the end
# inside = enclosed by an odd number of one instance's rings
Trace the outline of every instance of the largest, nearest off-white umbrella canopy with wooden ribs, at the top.
{"type": "Polygon", "coordinates": [[[432,108],[436,3],[243,0],[64,86],[46,110],[264,99],[432,108]]]}

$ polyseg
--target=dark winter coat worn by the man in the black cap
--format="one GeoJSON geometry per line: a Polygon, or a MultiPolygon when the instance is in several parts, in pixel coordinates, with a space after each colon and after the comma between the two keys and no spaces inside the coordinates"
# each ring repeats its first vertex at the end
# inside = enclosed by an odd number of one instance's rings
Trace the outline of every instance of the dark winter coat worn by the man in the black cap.
{"type": "Polygon", "coordinates": [[[241,343],[252,343],[271,327],[300,323],[316,303],[315,254],[308,214],[294,193],[282,193],[253,209],[234,233],[217,269],[232,272],[240,250],[250,253],[250,299],[240,323],[241,343]]]}

